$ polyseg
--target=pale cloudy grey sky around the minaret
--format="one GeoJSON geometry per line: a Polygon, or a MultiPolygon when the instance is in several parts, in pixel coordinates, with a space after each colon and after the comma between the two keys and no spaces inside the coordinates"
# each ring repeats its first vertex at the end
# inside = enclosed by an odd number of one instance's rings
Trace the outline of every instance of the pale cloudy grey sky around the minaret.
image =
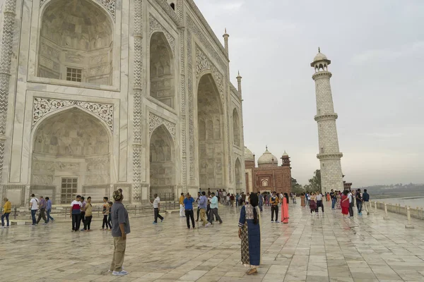
{"type": "MultiPolygon", "coordinates": [[[[321,47],[345,180],[424,183],[424,1],[196,0],[243,77],[245,145],[292,160],[306,184],[319,168],[313,68],[321,47]]],[[[280,160],[281,161],[281,160],[280,160]]]]}

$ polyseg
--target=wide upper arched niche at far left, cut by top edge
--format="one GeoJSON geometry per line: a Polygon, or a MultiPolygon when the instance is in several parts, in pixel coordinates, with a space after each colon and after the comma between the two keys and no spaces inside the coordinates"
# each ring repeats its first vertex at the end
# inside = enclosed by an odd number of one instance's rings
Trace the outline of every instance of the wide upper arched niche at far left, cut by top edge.
{"type": "Polygon", "coordinates": [[[42,12],[37,75],[112,85],[113,27],[95,1],[50,1],[42,12]]]}

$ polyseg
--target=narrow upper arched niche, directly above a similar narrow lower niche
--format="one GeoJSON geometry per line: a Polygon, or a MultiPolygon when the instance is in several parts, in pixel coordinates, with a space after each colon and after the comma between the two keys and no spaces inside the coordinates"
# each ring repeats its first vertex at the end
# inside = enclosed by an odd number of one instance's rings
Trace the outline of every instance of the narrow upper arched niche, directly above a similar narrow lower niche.
{"type": "Polygon", "coordinates": [[[171,108],[175,106],[174,74],[170,44],[163,32],[155,32],[150,44],[150,95],[171,108]]]}

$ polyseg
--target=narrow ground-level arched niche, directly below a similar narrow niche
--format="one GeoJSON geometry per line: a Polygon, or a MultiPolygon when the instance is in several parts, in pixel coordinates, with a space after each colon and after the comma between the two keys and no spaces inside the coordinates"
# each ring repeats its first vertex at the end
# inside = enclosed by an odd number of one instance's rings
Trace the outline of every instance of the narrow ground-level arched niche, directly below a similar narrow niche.
{"type": "Polygon", "coordinates": [[[172,136],[164,125],[156,128],[150,142],[150,183],[151,195],[174,199],[175,178],[175,146],[172,136]]]}

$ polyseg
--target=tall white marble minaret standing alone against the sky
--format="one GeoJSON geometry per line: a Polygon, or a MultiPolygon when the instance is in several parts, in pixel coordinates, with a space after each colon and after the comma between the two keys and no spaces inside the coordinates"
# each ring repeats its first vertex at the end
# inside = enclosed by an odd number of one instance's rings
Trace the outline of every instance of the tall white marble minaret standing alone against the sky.
{"type": "Polygon", "coordinates": [[[315,73],[312,79],[315,81],[315,94],[317,96],[319,154],[317,158],[321,163],[321,186],[322,192],[331,189],[343,191],[343,174],[341,172],[340,159],[343,154],[338,149],[338,137],[336,128],[337,114],[334,113],[333,97],[331,95],[331,73],[328,66],[331,63],[318,48],[318,54],[311,63],[315,73]]]}

